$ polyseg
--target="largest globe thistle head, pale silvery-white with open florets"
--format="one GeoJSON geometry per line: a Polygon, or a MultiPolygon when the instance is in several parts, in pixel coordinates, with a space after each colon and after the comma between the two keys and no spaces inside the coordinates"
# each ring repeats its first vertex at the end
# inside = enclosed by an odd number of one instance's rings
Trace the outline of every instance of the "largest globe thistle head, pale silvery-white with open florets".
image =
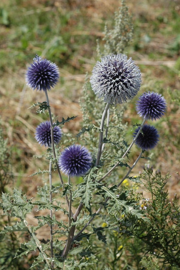
{"type": "Polygon", "coordinates": [[[140,89],[141,72],[125,54],[112,54],[101,58],[92,70],[92,90],[104,102],[121,104],[134,98],[140,89]]]}

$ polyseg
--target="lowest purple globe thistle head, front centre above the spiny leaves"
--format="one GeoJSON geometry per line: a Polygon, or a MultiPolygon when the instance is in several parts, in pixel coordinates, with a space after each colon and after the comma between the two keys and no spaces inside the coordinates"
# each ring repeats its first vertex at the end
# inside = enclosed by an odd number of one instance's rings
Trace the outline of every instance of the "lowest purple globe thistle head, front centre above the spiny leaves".
{"type": "Polygon", "coordinates": [[[92,157],[84,146],[74,144],[62,151],[58,160],[61,171],[70,176],[85,175],[91,168],[92,157]]]}

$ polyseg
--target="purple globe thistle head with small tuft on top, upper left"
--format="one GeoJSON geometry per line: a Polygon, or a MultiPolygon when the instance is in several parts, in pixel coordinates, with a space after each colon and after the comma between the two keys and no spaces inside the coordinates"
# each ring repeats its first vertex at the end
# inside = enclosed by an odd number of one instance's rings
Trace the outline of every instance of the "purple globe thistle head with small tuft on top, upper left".
{"type": "Polygon", "coordinates": [[[58,82],[59,72],[55,63],[41,59],[38,55],[26,71],[25,80],[33,90],[50,90],[58,82]]]}

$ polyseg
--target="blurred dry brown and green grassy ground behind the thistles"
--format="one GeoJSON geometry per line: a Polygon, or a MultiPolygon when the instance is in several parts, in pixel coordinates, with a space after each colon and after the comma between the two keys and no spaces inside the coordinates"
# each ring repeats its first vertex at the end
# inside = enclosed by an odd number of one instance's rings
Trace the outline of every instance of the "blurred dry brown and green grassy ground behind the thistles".
{"type": "MultiPolygon", "coordinates": [[[[179,200],[180,176],[176,172],[179,172],[180,165],[180,1],[127,0],[126,4],[134,25],[133,42],[126,53],[140,66],[143,75],[138,95],[154,90],[167,99],[165,117],[154,123],[160,131],[160,142],[153,151],[150,164],[155,170],[161,169],[162,174],[170,173],[167,183],[169,197],[178,193],[179,200]]],[[[1,1],[1,127],[4,139],[7,138],[8,155],[5,158],[8,162],[10,160],[14,176],[8,175],[6,182],[1,183],[1,191],[11,192],[13,187],[18,187],[32,198],[43,180],[42,176],[28,176],[38,168],[47,169],[46,160],[37,160],[33,155],[43,153],[43,148],[35,142],[34,132],[42,118],[48,116],[37,115],[33,108],[27,110],[36,100],[44,101],[44,95],[27,89],[24,81],[26,66],[35,54],[59,66],[61,78],[49,93],[49,102],[59,119],[79,116],[62,129],[67,134],[78,133],[82,121],[78,100],[82,96],[85,73],[90,75],[99,60],[96,40],[100,39],[100,45],[103,44],[105,22],[108,28],[112,27],[114,12],[119,6],[120,1],[117,0],[1,1]]],[[[127,122],[130,127],[128,141],[131,141],[131,125],[139,119],[134,114],[135,101],[136,98],[128,102],[124,114],[124,123],[127,122]]],[[[135,147],[133,155],[136,160],[138,154],[135,147]]],[[[10,166],[8,162],[7,166],[10,166]]],[[[144,160],[136,166],[132,175],[142,170],[143,163],[144,160]]],[[[56,184],[58,179],[53,178],[53,181],[56,184]]],[[[28,218],[29,222],[34,222],[33,213],[28,218]]],[[[0,225],[5,222],[7,220],[3,219],[0,225]]],[[[47,234],[49,236],[49,230],[47,234]]],[[[45,236],[46,232],[40,231],[38,238],[44,239],[45,236]]],[[[11,238],[9,241],[12,242],[13,234],[11,238]]]]}

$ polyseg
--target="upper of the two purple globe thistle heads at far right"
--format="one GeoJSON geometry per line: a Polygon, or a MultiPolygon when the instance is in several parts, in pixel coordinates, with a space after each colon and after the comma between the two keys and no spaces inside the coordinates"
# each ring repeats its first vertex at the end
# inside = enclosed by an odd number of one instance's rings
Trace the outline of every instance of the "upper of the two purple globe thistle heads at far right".
{"type": "Polygon", "coordinates": [[[165,98],[155,92],[144,92],[137,101],[137,113],[146,119],[160,119],[166,110],[165,98]]]}

